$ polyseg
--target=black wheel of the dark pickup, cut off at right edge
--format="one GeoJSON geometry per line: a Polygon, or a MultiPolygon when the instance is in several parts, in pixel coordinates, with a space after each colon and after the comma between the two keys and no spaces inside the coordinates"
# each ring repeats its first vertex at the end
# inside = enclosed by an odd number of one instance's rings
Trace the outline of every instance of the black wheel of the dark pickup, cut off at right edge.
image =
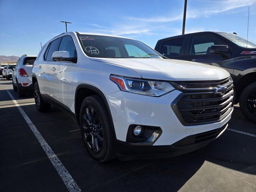
{"type": "Polygon", "coordinates": [[[256,82],[244,88],[239,98],[239,105],[244,116],[256,123],[256,82]]]}

